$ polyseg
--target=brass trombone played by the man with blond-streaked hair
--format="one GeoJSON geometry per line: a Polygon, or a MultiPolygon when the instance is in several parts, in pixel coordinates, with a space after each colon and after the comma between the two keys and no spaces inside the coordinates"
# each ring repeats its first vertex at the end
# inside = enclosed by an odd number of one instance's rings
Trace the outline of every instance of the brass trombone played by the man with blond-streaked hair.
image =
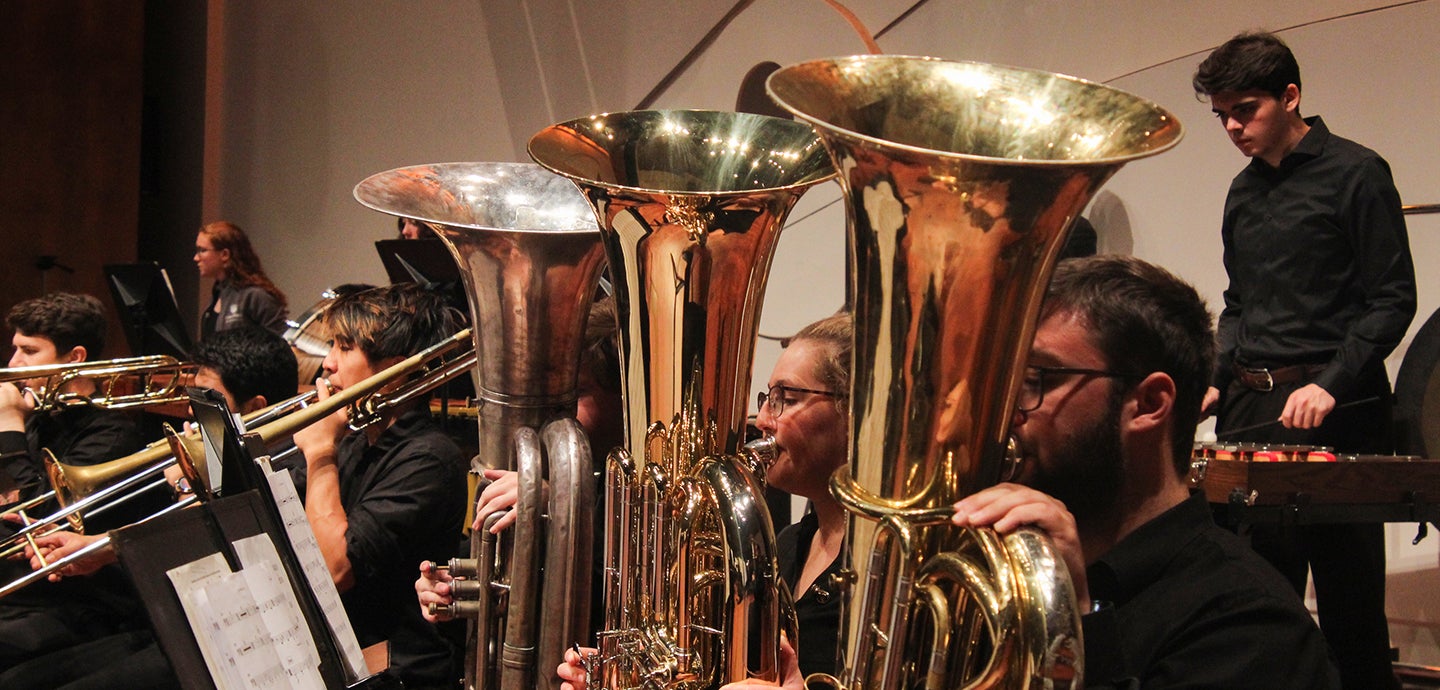
{"type": "MultiPolygon", "coordinates": [[[[327,398],[325,400],[308,403],[314,396],[314,392],[292,398],[279,405],[274,405],[256,413],[265,415],[275,408],[288,406],[284,413],[274,415],[274,419],[265,422],[262,426],[252,431],[258,435],[265,445],[272,445],[282,438],[294,435],[297,431],[310,426],[311,424],[324,419],[340,409],[350,408],[350,428],[360,431],[364,426],[374,424],[384,418],[384,415],[405,405],[423,393],[455,379],[464,373],[474,369],[477,362],[475,347],[471,341],[471,330],[465,328],[445,340],[428,347],[426,350],[410,356],[399,362],[389,369],[384,369],[374,376],[364,379],[354,386],[346,387],[344,390],[327,398]],[[413,379],[405,380],[412,375],[419,375],[413,379]],[[397,380],[403,380],[399,386],[392,387],[397,380]],[[304,399],[305,405],[301,405],[304,399]],[[301,405],[297,408],[297,405],[301,405]]],[[[46,468],[50,477],[50,483],[55,487],[53,496],[62,503],[63,508],[52,516],[37,520],[32,524],[22,527],[13,536],[3,542],[7,546],[4,553],[14,553],[16,550],[23,550],[29,545],[29,539],[36,536],[49,534],[52,532],[63,530],[63,526],[58,526],[59,521],[71,521],[71,514],[79,513],[91,506],[105,504],[105,507],[128,500],[144,490],[156,485],[154,483],[145,484],[141,488],[132,488],[150,480],[157,472],[164,472],[170,465],[180,464],[186,468],[186,475],[194,485],[194,493],[202,494],[207,491],[209,478],[200,471],[203,464],[189,465],[189,457],[199,455],[199,434],[190,432],[183,438],[177,434],[173,439],[166,442],[151,444],[148,448],[138,451],[132,455],[112,460],[109,462],[102,462],[99,465],[66,465],[60,461],[48,461],[46,468]],[[174,452],[167,454],[170,448],[176,448],[174,452]],[[181,460],[183,458],[183,460],[181,460]],[[121,498],[115,501],[105,503],[111,496],[121,494],[130,488],[121,498]],[[79,507],[76,507],[79,506],[79,507]],[[50,527],[46,530],[46,527],[50,527]],[[46,530],[46,532],[40,532],[46,530]]],[[[163,480],[161,480],[163,481],[163,480]]],[[[180,501],[164,507],[153,516],[144,520],[151,520],[161,514],[170,513],[171,510],[179,510],[194,501],[193,496],[187,496],[180,501]]],[[[98,510],[95,510],[98,511],[98,510]]],[[[95,513],[92,511],[92,514],[95,513]]],[[[141,520],[141,521],[144,521],[141,520]]],[[[76,530],[81,532],[81,530],[76,530]]],[[[109,537],[104,537],[95,545],[91,545],[81,552],[71,553],[60,560],[46,563],[40,569],[32,573],[17,578],[9,585],[0,588],[0,598],[35,582],[53,572],[63,569],[65,566],[75,563],[76,560],[89,556],[99,549],[101,543],[109,543],[109,537]],[[43,573],[43,575],[42,575],[43,573]]]]}

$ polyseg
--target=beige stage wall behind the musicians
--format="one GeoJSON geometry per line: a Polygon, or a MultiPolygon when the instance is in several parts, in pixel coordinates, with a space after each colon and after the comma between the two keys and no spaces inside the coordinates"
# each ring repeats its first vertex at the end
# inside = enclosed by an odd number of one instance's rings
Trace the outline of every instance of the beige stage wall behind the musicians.
{"type": "MultiPolygon", "coordinates": [[[[389,219],[350,189],[396,166],[527,160],[553,121],[635,107],[730,3],[629,0],[226,3],[225,56],[212,107],[213,218],[255,238],[295,308],[323,288],[380,281],[372,242],[389,219]]],[[[912,0],[851,0],[878,30],[912,0]]],[[[1217,225],[1243,158],[1189,91],[1202,53],[1251,27],[1286,29],[1305,68],[1303,111],[1394,167],[1407,203],[1437,203],[1440,61],[1428,49],[1440,3],[1342,0],[932,0],[880,39],[888,53],[976,59],[1113,82],[1171,108],[1188,127],[1174,151],[1122,170],[1090,209],[1102,249],[1132,252],[1195,282],[1218,304],[1225,277],[1217,225]]],[[[756,0],[655,107],[732,108],[744,72],[863,52],[821,0],[756,0]]],[[[838,187],[802,199],[775,261],[762,333],[788,334],[834,311],[844,281],[838,187]],[[802,297],[796,297],[802,295],[802,297]]],[[[213,218],[207,218],[210,220],[213,218]]],[[[1411,216],[1420,314],[1436,310],[1440,216],[1411,216]]],[[[184,266],[181,266],[183,269],[184,266]]],[[[1418,327],[1418,323],[1416,324],[1418,327]]],[[[756,380],[776,346],[762,341],[756,380]]],[[[1397,359],[1398,362],[1398,353],[1397,359]]],[[[1410,546],[1391,527],[1390,614],[1401,658],[1440,664],[1440,539],[1410,546]]]]}

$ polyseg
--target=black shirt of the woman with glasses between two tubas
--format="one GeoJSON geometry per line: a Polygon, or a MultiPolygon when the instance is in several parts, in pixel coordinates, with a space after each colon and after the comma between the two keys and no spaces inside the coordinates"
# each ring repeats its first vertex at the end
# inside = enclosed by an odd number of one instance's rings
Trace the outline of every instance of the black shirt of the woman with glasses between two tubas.
{"type": "MultiPolygon", "coordinates": [[[[806,513],[801,521],[780,530],[775,537],[780,579],[786,583],[799,582],[805,559],[809,557],[811,540],[819,530],[815,513],[806,513]]],[[[832,581],[841,570],[841,559],[835,559],[815,583],[805,592],[795,593],[795,617],[799,622],[801,640],[795,650],[799,657],[801,674],[837,674],[835,660],[840,647],[840,599],[841,589],[832,581]]]]}

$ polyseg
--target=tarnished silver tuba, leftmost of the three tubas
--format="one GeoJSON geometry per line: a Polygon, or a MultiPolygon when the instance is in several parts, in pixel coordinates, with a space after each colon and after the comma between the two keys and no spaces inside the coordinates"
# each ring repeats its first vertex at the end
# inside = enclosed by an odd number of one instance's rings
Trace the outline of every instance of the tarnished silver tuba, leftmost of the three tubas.
{"type": "Polygon", "coordinates": [[[425,222],[459,264],[480,359],[475,470],[520,480],[514,529],[498,545],[475,532],[474,560],[454,563],[471,585],[456,582],[456,611],[475,618],[465,686],[559,687],[566,645],[589,635],[595,475],[575,411],[605,262],[595,216],[575,186],[530,163],[390,170],[361,182],[356,199],[425,222]]]}

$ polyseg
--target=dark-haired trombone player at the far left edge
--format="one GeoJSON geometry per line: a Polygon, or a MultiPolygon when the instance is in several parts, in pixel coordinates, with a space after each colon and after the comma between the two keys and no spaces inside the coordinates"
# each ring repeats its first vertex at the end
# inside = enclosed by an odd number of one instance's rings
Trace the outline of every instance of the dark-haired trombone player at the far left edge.
{"type": "MultiPolygon", "coordinates": [[[[6,317],[14,330],[12,367],[95,360],[105,346],[105,310],[89,295],[53,292],[26,300],[6,317]]],[[[45,382],[24,382],[42,386],[45,382]]],[[[68,393],[89,395],[95,383],[73,379],[68,393]]],[[[4,500],[29,498],[42,485],[42,448],[66,464],[89,465],[138,451],[144,441],[124,412],[89,405],[36,411],[36,399],[20,386],[0,383],[0,472],[4,500]]],[[[42,507],[48,514],[55,506],[42,507]]],[[[29,517],[35,517],[27,511],[29,517]]],[[[6,530],[23,519],[6,516],[6,530]]],[[[22,560],[4,563],[6,582],[29,572],[22,560]]],[[[144,609],[124,573],[108,569],[85,583],[39,582],[0,599],[0,671],[39,655],[99,637],[143,629],[144,609]]],[[[22,687],[4,683],[4,687],[22,687]]]]}

